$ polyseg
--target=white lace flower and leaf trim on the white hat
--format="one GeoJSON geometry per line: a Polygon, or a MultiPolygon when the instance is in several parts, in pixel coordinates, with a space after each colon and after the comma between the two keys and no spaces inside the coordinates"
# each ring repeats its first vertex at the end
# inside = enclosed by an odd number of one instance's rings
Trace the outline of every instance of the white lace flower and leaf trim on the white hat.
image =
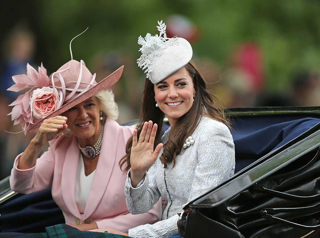
{"type": "MultiPolygon", "coordinates": [[[[139,51],[141,51],[141,56],[137,59],[138,66],[142,70],[146,69],[144,73],[147,73],[147,78],[150,76],[150,72],[154,71],[152,65],[155,56],[160,56],[164,48],[169,47],[174,44],[176,37],[168,38],[166,34],[166,25],[162,23],[162,20],[157,26],[159,35],[156,34],[152,36],[150,33],[146,34],[146,37],[143,38],[141,35],[138,39],[138,44],[142,45],[139,51]]],[[[150,79],[150,78],[149,78],[150,79]]]]}

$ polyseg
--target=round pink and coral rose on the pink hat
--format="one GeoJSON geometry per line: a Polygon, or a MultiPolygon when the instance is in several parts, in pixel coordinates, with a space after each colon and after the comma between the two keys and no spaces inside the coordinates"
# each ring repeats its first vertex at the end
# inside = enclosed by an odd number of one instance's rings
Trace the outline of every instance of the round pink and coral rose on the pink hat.
{"type": "Polygon", "coordinates": [[[37,88],[30,98],[32,115],[42,119],[51,114],[60,107],[60,98],[62,98],[62,94],[59,95],[59,91],[56,88],[37,88]]]}

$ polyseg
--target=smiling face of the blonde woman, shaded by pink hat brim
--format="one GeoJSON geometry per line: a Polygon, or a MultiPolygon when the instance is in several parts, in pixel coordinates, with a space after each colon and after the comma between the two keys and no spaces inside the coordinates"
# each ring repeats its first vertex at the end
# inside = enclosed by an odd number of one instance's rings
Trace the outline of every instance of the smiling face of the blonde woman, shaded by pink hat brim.
{"type": "Polygon", "coordinates": [[[88,98],[62,114],[68,118],[68,129],[80,145],[93,146],[100,135],[100,103],[96,97],[88,98]]]}

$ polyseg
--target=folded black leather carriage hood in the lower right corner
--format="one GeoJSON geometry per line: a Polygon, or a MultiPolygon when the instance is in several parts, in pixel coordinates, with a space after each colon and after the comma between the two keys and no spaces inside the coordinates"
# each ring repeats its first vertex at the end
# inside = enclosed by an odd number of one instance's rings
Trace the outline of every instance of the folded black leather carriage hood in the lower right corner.
{"type": "Polygon", "coordinates": [[[318,123],[185,205],[180,236],[319,237],[319,148],[318,123]]]}

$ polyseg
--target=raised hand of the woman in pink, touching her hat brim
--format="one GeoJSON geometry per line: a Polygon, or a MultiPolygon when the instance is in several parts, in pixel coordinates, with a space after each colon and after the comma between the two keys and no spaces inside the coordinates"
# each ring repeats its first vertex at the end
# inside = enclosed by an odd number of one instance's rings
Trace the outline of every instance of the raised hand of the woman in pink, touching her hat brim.
{"type": "Polygon", "coordinates": [[[45,144],[53,140],[68,128],[66,122],[67,117],[65,116],[55,116],[44,120],[34,138],[35,141],[39,144],[45,144]]]}

